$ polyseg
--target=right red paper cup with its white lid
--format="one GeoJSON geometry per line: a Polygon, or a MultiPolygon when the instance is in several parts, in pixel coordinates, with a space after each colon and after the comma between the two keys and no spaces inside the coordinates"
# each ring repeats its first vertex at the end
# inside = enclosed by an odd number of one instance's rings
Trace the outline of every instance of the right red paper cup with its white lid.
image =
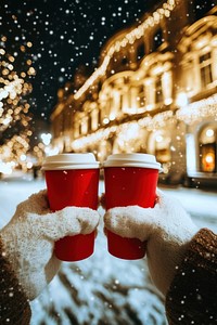
{"type": "MultiPolygon", "coordinates": [[[[105,208],[138,205],[152,208],[161,165],[146,154],[116,154],[104,164],[105,208]]],[[[145,256],[145,242],[126,238],[107,231],[108,252],[117,258],[135,260],[145,256]]]]}

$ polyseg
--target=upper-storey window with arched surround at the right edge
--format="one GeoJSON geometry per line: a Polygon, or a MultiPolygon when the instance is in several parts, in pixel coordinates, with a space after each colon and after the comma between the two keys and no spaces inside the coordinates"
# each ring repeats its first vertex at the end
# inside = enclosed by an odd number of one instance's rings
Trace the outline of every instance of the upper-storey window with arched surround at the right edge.
{"type": "Polygon", "coordinates": [[[179,43],[183,52],[181,79],[189,96],[215,88],[217,80],[215,22],[216,17],[212,15],[195,22],[187,28],[179,43]]]}

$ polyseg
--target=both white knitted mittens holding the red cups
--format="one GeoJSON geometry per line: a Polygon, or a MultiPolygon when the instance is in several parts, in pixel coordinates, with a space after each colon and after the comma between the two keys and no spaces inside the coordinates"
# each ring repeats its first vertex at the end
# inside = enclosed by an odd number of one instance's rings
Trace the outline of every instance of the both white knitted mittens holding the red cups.
{"type": "MultiPolygon", "coordinates": [[[[46,191],[17,206],[0,237],[5,258],[28,299],[35,299],[60,268],[61,262],[53,255],[54,242],[67,235],[89,234],[97,229],[99,220],[98,211],[89,208],[67,207],[51,212],[46,191]]],[[[123,237],[148,242],[150,273],[164,295],[186,246],[197,231],[181,205],[159,191],[153,209],[113,208],[106,211],[104,225],[123,237]]]]}

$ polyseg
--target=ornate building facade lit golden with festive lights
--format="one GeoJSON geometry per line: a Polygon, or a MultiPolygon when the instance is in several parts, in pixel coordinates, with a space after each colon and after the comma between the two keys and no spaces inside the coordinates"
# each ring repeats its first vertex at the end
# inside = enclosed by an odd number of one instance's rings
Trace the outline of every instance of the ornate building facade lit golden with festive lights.
{"type": "Polygon", "coordinates": [[[162,181],[217,183],[217,4],[200,2],[159,1],[107,41],[76,92],[59,91],[58,152],[149,153],[162,181]]]}

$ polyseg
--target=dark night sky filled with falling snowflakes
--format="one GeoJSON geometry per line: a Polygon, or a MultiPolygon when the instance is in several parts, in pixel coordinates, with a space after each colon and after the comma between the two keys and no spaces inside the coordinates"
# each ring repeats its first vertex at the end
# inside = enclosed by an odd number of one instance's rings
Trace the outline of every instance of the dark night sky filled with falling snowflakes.
{"type": "MultiPolygon", "coordinates": [[[[144,0],[1,1],[0,34],[10,54],[28,41],[37,74],[29,98],[35,117],[49,122],[60,87],[73,79],[82,64],[89,73],[98,66],[100,49],[116,31],[138,22],[149,9],[144,0]]],[[[153,5],[155,1],[149,1],[153,5]]],[[[16,54],[17,55],[17,54],[16,54]]],[[[16,62],[22,69],[25,60],[16,62]]]]}

